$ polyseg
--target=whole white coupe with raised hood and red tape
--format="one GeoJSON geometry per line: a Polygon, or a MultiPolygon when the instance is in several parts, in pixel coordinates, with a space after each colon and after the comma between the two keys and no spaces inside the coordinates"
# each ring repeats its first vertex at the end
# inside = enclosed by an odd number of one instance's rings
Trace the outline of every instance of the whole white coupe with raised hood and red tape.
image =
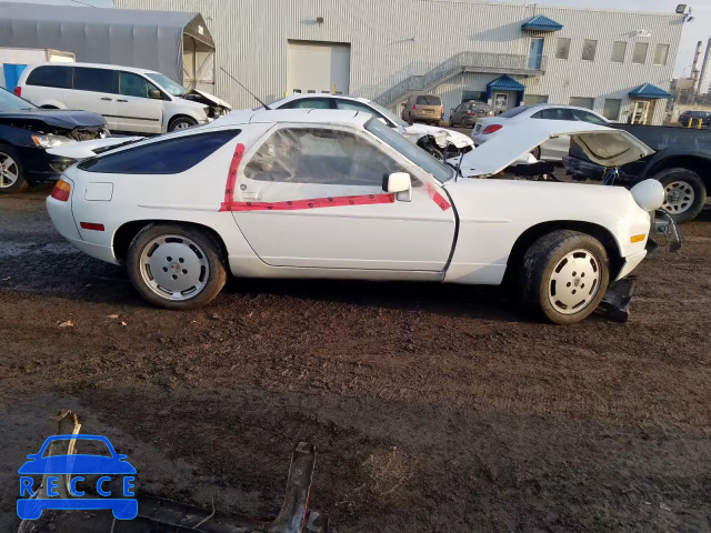
{"type": "MultiPolygon", "coordinates": [[[[512,130],[459,163],[492,177],[560,134],[602,163],[651,152],[624,131],[569,128],[512,130]]],[[[98,142],[68,157],[94,155],[98,142]]],[[[47,207],[64,238],[126,264],[138,292],[169,309],[208,303],[228,273],[510,279],[538,315],[573,323],[644,259],[663,199],[657,182],[628,191],[464,175],[371,114],[240,111],[90,157],[66,170],[47,207]]]]}

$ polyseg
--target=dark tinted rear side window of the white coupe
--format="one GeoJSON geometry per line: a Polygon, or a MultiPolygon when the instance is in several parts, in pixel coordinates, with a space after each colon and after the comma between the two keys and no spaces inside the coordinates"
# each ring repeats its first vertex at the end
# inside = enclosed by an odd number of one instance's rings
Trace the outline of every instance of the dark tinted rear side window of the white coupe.
{"type": "Polygon", "coordinates": [[[239,134],[240,130],[214,131],[151,142],[87,160],[79,168],[106,174],[178,174],[191,169],[239,134]]]}

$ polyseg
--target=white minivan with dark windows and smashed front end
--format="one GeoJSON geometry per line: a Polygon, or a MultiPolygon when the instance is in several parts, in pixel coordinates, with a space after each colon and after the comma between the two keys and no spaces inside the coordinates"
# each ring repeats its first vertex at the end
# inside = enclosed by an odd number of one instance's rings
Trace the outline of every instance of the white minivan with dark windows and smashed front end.
{"type": "Polygon", "coordinates": [[[101,113],[113,132],[164,133],[208,123],[231,109],[160,72],[113,64],[30,64],[14,91],[41,108],[101,113]]]}

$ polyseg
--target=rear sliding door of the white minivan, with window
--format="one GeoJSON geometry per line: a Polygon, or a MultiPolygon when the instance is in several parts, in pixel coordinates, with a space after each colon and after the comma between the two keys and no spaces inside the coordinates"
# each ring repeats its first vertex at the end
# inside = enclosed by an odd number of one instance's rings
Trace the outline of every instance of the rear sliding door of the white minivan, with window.
{"type": "Polygon", "coordinates": [[[72,88],[64,90],[67,108],[100,113],[109,130],[116,130],[116,72],[89,67],[74,67],[73,71],[72,88]]]}

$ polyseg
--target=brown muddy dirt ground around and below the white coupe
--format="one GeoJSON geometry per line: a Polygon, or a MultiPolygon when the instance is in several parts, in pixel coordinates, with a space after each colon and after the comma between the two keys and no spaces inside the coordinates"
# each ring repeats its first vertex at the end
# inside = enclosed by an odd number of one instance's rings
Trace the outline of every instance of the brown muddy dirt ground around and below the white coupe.
{"type": "Polygon", "coordinates": [[[0,531],[60,408],[139,492],[221,513],[276,513],[308,441],[338,532],[711,531],[711,212],[639,269],[627,324],[553,326],[453,285],[233,280],[153,309],[47,194],[0,198],[0,531]]]}

